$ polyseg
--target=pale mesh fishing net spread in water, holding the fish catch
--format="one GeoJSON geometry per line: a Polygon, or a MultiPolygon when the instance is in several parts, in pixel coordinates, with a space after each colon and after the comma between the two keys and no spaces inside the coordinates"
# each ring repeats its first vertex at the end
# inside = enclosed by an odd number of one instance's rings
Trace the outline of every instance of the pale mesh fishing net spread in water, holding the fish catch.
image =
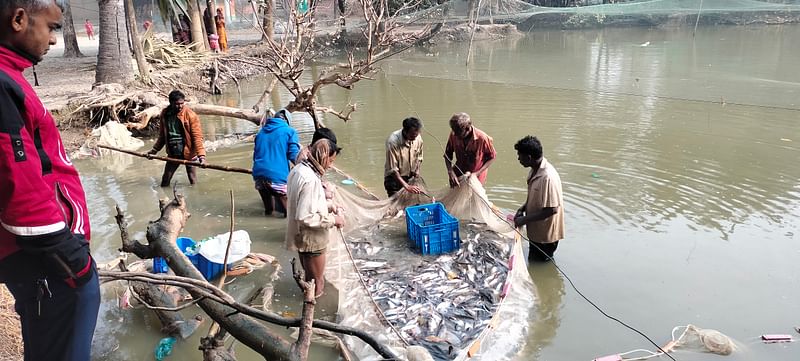
{"type": "MultiPolygon", "coordinates": [[[[423,182],[419,182],[423,184],[423,182]]],[[[326,277],[338,290],[339,322],[368,331],[408,360],[510,359],[524,344],[534,288],[512,227],[474,176],[453,189],[390,199],[336,187],[345,209],[326,277]],[[460,249],[412,251],[404,209],[434,198],[460,220],[460,249]]],[[[361,360],[380,357],[356,338],[361,360]]]]}

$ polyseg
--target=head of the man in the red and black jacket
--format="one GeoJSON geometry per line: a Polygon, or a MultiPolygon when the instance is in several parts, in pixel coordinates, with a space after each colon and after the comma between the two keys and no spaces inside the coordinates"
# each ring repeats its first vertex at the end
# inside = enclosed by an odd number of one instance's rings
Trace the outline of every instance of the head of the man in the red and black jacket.
{"type": "Polygon", "coordinates": [[[0,1],[0,44],[39,62],[56,44],[61,6],[55,0],[0,1]]]}

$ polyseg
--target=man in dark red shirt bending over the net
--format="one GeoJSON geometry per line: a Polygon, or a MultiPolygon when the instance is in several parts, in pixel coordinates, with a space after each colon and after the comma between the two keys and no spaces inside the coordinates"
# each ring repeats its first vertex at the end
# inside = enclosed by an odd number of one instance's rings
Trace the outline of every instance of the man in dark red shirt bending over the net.
{"type": "Polygon", "coordinates": [[[450,137],[444,151],[444,166],[450,187],[458,187],[458,177],[474,174],[481,184],[486,183],[489,166],[497,158],[492,137],[472,125],[469,114],[456,113],[450,118],[450,137]],[[453,154],[456,162],[453,167],[453,154]]]}

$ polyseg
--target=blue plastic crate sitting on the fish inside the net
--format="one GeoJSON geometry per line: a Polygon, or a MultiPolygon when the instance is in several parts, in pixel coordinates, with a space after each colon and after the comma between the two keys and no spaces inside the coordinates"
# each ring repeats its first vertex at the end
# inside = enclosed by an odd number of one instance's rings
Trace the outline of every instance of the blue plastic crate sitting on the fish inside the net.
{"type": "Polygon", "coordinates": [[[412,246],[422,254],[441,254],[461,247],[458,219],[441,203],[406,208],[406,230],[412,246]]]}

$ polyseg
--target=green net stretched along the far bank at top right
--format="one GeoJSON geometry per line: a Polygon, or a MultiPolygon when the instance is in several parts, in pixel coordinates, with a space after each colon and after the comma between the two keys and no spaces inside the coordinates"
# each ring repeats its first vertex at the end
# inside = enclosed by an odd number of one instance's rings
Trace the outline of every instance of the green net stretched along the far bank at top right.
{"type": "MultiPolygon", "coordinates": [[[[355,0],[351,0],[355,1],[355,0]]],[[[576,1],[570,7],[545,7],[523,0],[450,0],[406,12],[408,23],[513,23],[519,29],[593,26],[784,23],[800,20],[797,0],[600,0],[576,1]],[[698,14],[699,20],[698,20],[698,14]]],[[[352,8],[352,7],[351,7],[352,8]]],[[[361,24],[352,22],[349,27],[361,24]]]]}

